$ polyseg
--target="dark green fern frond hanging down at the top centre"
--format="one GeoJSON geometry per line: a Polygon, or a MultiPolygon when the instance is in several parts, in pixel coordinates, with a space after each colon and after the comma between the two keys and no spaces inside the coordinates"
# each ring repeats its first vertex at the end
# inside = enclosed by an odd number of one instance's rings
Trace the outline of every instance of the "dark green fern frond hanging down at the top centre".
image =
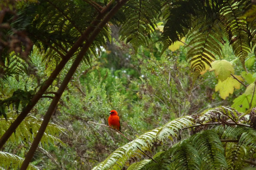
{"type": "Polygon", "coordinates": [[[150,33],[155,30],[161,10],[159,0],[131,0],[124,6],[126,21],[120,30],[121,40],[133,45],[135,52],[140,45],[147,45],[150,33]]]}

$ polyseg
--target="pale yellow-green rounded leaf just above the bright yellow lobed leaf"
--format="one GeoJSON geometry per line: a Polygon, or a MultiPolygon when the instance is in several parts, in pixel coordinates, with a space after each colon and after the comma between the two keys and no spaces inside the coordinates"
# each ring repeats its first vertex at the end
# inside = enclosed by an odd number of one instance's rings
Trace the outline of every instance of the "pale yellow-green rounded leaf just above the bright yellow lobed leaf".
{"type": "Polygon", "coordinates": [[[209,71],[213,71],[215,76],[220,80],[224,81],[226,78],[230,77],[230,74],[234,74],[233,65],[226,60],[217,60],[211,63],[212,68],[209,71]]]}

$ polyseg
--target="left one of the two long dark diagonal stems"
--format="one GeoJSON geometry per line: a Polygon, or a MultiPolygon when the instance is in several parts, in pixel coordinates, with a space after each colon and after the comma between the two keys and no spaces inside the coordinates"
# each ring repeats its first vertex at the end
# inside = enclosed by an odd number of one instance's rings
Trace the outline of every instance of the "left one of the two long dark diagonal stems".
{"type": "Polygon", "coordinates": [[[69,61],[69,59],[73,56],[73,54],[78,50],[80,45],[84,42],[85,39],[87,39],[87,36],[95,29],[98,23],[100,23],[101,19],[106,15],[106,13],[110,10],[112,6],[112,2],[114,0],[111,0],[106,7],[104,7],[101,10],[101,13],[98,14],[94,21],[90,23],[90,25],[87,27],[85,32],[79,37],[79,39],[75,42],[75,44],[72,46],[72,48],[66,53],[65,57],[63,57],[63,60],[59,63],[59,65],[55,68],[53,73],[49,76],[49,78],[44,82],[44,84],[41,86],[41,88],[38,90],[36,95],[33,96],[32,100],[28,102],[27,106],[23,108],[20,115],[18,115],[17,119],[10,125],[10,127],[6,130],[4,135],[0,138],[0,148],[4,146],[5,142],[9,139],[11,134],[15,131],[15,129],[20,125],[22,120],[27,116],[27,114],[31,111],[31,109],[36,105],[38,100],[41,98],[43,93],[48,89],[48,87],[53,83],[55,78],[58,76],[60,71],[64,68],[65,64],[69,61]]]}

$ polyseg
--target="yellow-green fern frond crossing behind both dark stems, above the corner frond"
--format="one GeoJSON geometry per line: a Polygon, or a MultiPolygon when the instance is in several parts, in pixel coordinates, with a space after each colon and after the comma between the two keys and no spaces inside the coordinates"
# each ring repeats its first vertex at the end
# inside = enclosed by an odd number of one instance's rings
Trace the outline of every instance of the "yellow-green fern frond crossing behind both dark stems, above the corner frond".
{"type": "MultiPolygon", "coordinates": [[[[0,136],[2,136],[5,131],[9,128],[9,126],[12,124],[13,121],[17,118],[17,114],[13,114],[12,112],[7,114],[7,119],[2,118],[0,119],[0,136]]],[[[18,126],[18,128],[15,131],[15,134],[12,134],[9,138],[9,141],[12,142],[19,142],[19,140],[22,141],[33,141],[33,138],[36,136],[38,129],[40,128],[42,124],[43,119],[37,119],[33,117],[32,115],[27,116],[18,126]]],[[[44,132],[44,135],[41,139],[41,143],[47,144],[54,143],[54,142],[60,142],[64,145],[64,143],[58,138],[60,134],[66,134],[66,129],[54,124],[49,123],[46,131],[44,132]]]]}

